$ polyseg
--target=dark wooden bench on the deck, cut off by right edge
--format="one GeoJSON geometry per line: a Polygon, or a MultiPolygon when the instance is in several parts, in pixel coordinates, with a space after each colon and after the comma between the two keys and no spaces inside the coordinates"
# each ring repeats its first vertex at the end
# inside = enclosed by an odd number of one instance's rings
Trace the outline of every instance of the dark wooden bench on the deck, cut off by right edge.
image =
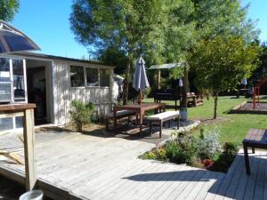
{"type": "Polygon", "coordinates": [[[247,175],[250,175],[250,166],[247,148],[252,148],[252,153],[255,153],[255,148],[267,149],[267,130],[265,129],[249,129],[246,138],[243,140],[243,148],[245,154],[245,164],[247,175]]]}

